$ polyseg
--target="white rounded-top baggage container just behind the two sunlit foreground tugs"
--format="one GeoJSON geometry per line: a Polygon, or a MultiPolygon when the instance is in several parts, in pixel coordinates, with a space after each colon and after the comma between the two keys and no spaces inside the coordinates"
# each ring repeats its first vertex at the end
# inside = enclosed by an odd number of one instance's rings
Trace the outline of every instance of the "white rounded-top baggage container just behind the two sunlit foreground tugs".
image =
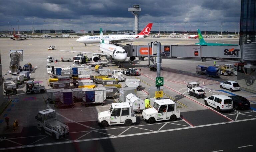
{"type": "Polygon", "coordinates": [[[136,96],[133,93],[130,93],[126,96],[125,102],[129,103],[132,111],[134,112],[142,112],[145,109],[144,100],[140,99],[140,97],[136,96]]]}

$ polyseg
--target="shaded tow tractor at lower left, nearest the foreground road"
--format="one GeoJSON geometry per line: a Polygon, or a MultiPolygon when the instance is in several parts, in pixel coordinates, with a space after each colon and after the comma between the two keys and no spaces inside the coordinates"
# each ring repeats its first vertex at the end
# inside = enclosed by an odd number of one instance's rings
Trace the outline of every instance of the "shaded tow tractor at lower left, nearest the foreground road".
{"type": "Polygon", "coordinates": [[[53,109],[39,111],[36,116],[37,128],[55,139],[64,138],[69,135],[69,127],[56,119],[53,109]]]}

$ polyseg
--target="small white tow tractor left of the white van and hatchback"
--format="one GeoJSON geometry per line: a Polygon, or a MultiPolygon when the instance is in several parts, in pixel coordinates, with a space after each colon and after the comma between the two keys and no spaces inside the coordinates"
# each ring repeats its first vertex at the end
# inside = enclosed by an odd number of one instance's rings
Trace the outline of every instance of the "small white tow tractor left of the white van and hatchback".
{"type": "Polygon", "coordinates": [[[189,93],[190,96],[195,96],[196,98],[204,97],[205,91],[199,87],[199,83],[189,82],[187,87],[187,93],[189,93]]]}

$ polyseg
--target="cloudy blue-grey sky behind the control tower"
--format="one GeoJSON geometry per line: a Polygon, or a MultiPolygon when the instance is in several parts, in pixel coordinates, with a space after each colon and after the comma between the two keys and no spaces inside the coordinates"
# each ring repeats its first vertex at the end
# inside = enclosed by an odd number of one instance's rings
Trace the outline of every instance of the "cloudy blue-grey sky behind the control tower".
{"type": "Polygon", "coordinates": [[[241,0],[0,0],[0,31],[17,29],[17,20],[20,31],[44,29],[44,20],[46,29],[133,30],[133,4],[141,8],[139,30],[152,22],[154,31],[173,31],[173,24],[184,31],[186,22],[186,31],[204,31],[205,23],[207,31],[220,31],[221,23],[237,31],[240,22],[241,0]]]}

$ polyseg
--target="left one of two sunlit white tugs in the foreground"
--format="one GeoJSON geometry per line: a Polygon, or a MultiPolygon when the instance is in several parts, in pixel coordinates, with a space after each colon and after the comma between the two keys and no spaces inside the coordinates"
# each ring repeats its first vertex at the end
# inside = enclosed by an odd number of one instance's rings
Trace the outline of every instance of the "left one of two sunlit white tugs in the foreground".
{"type": "Polygon", "coordinates": [[[118,124],[130,126],[136,123],[136,114],[128,103],[112,103],[109,110],[98,113],[98,123],[103,127],[118,124]]]}

